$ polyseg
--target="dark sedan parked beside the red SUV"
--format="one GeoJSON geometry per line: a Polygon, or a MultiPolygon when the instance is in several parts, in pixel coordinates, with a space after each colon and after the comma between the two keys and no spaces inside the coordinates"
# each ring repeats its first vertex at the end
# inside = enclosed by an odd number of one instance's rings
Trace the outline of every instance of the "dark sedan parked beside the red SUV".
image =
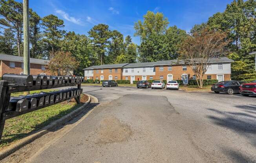
{"type": "Polygon", "coordinates": [[[218,82],[212,85],[211,90],[214,91],[214,93],[225,92],[227,94],[235,94],[239,93],[239,87],[243,83],[245,82],[236,80],[218,82]]]}

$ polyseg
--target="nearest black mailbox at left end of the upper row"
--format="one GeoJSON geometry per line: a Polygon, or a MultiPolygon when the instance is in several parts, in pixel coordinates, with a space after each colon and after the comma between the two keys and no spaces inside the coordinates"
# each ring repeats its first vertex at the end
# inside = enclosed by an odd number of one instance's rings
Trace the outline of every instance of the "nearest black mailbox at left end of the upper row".
{"type": "Polygon", "coordinates": [[[16,84],[19,86],[32,86],[32,75],[18,75],[18,74],[3,74],[2,80],[6,80],[9,84],[16,84]]]}

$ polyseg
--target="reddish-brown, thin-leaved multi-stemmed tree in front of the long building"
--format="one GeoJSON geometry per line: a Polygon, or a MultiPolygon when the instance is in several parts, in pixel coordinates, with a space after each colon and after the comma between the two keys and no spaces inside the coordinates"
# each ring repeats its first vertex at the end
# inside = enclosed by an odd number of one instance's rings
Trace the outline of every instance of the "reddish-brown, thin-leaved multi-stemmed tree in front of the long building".
{"type": "Polygon", "coordinates": [[[192,68],[199,88],[203,87],[203,76],[207,71],[210,59],[225,53],[225,47],[229,43],[226,37],[226,33],[203,29],[188,36],[182,43],[180,58],[192,68]]]}

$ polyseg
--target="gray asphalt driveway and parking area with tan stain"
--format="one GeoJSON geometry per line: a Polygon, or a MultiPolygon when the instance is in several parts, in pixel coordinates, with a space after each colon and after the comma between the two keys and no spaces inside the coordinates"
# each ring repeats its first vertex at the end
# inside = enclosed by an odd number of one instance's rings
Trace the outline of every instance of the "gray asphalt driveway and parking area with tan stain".
{"type": "Polygon", "coordinates": [[[85,86],[96,109],[35,163],[255,163],[256,98],[85,86]]]}

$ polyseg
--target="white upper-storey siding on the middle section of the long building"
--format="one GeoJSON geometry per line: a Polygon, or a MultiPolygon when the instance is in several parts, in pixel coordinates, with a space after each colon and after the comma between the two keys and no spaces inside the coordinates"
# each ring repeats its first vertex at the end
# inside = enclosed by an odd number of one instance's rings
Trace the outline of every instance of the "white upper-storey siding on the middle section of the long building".
{"type": "Polygon", "coordinates": [[[150,66],[145,66],[146,72],[143,72],[143,67],[129,67],[129,68],[123,68],[123,76],[130,76],[130,75],[155,75],[155,67],[153,69],[150,69],[150,66]],[[128,70],[128,72],[125,72],[125,69],[128,70]],[[132,72],[132,69],[134,69],[134,72],[132,72]]]}

